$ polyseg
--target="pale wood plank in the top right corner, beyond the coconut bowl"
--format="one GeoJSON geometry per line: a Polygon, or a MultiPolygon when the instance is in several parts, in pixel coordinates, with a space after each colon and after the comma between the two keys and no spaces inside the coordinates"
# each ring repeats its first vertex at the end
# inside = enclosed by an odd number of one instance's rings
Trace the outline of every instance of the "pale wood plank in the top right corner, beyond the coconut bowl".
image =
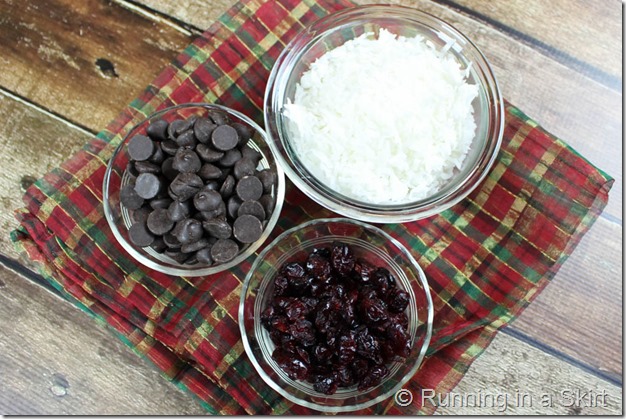
{"type": "Polygon", "coordinates": [[[523,43],[531,43],[568,66],[588,64],[622,78],[621,12],[616,0],[475,1],[451,0],[474,16],[491,19],[523,43]],[[584,45],[584,48],[580,48],[584,45]],[[575,63],[574,61],[580,61],[575,63]]]}

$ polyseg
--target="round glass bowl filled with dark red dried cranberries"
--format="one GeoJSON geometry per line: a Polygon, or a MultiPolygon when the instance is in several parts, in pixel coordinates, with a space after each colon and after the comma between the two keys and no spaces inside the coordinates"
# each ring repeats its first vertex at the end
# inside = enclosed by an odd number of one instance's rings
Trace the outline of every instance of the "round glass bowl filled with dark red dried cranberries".
{"type": "Polygon", "coordinates": [[[411,253],[381,229],[318,219],[282,233],[243,284],[252,364],[290,401],[324,412],[379,403],[420,367],[433,304],[411,253]]]}

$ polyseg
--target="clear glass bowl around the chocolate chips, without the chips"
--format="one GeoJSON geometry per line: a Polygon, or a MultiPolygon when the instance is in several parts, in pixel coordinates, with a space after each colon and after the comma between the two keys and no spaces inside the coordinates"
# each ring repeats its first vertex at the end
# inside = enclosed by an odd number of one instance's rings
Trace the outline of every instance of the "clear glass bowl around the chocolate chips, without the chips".
{"type": "MultiPolygon", "coordinates": [[[[167,157],[167,154],[165,154],[167,157]]],[[[257,156],[258,157],[258,156],[257,156]]],[[[216,163],[218,164],[218,163],[216,163]]],[[[231,172],[232,173],[232,172],[231,172]]],[[[161,176],[161,174],[159,174],[161,176]]],[[[208,180],[205,180],[205,184],[208,180]]],[[[164,189],[164,188],[162,188],[164,189]]],[[[164,194],[165,195],[165,194],[164,194]]],[[[272,229],[278,221],[282,209],[285,195],[284,172],[277,165],[276,159],[268,146],[265,132],[259,125],[247,116],[233,109],[224,106],[206,103],[188,103],[169,107],[150,115],[145,120],[135,125],[126,134],[119,144],[113,156],[108,162],[103,181],[103,201],[106,220],[113,232],[113,235],[121,246],[141,264],[170,275],[177,276],[206,276],[229,269],[247,259],[265,242],[272,229]],[[276,172],[276,181],[271,187],[269,196],[274,205],[273,212],[266,217],[262,224],[261,236],[252,243],[239,243],[239,250],[236,256],[230,261],[217,263],[210,262],[185,264],[174,260],[172,257],[162,252],[157,252],[150,246],[140,247],[135,245],[129,236],[129,228],[132,225],[132,212],[125,207],[120,200],[120,191],[128,184],[135,182],[137,173],[133,174],[127,170],[129,164],[128,143],[135,135],[146,135],[147,127],[154,121],[165,120],[168,123],[175,120],[188,120],[191,117],[207,118],[213,112],[222,112],[230,118],[230,123],[240,123],[249,128],[252,136],[247,142],[247,146],[260,153],[260,160],[256,170],[272,169],[276,172]]]]}

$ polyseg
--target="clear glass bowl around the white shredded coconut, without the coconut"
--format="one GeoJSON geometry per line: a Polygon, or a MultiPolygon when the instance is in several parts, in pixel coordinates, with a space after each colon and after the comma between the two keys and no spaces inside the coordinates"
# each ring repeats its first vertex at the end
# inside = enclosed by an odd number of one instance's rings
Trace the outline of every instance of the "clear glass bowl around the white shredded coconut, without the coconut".
{"type": "MultiPolygon", "coordinates": [[[[384,107],[384,104],[380,105],[384,107]]],[[[496,78],[486,58],[466,36],[427,13],[390,5],[344,9],[302,30],[285,47],[272,68],[264,104],[270,146],[291,181],[326,208],[373,223],[426,218],[466,197],[484,179],[497,157],[504,129],[503,106],[496,78]],[[371,33],[370,37],[377,37],[381,29],[407,38],[423,37],[440,54],[453,57],[467,72],[467,83],[478,86],[478,95],[472,102],[476,130],[463,163],[434,194],[413,202],[373,204],[331,189],[299,158],[285,115],[285,105],[294,102],[296,86],[316,59],[361,34],[371,33]]]]}

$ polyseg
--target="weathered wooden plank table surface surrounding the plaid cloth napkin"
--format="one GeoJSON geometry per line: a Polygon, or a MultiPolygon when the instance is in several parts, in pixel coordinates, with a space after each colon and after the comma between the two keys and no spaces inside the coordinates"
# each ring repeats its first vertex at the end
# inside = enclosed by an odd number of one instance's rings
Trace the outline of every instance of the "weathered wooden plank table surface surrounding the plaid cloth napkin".
{"type": "MultiPolygon", "coordinates": [[[[9,233],[25,188],[233,3],[0,0],[0,414],[205,413],[108,329],[37,285],[9,233]]],[[[438,412],[622,414],[621,2],[401,3],[466,33],[505,98],[616,179],[604,213],[552,283],[454,390],[508,394],[508,405],[438,412]],[[517,394],[530,395],[524,406],[517,394]]]]}

